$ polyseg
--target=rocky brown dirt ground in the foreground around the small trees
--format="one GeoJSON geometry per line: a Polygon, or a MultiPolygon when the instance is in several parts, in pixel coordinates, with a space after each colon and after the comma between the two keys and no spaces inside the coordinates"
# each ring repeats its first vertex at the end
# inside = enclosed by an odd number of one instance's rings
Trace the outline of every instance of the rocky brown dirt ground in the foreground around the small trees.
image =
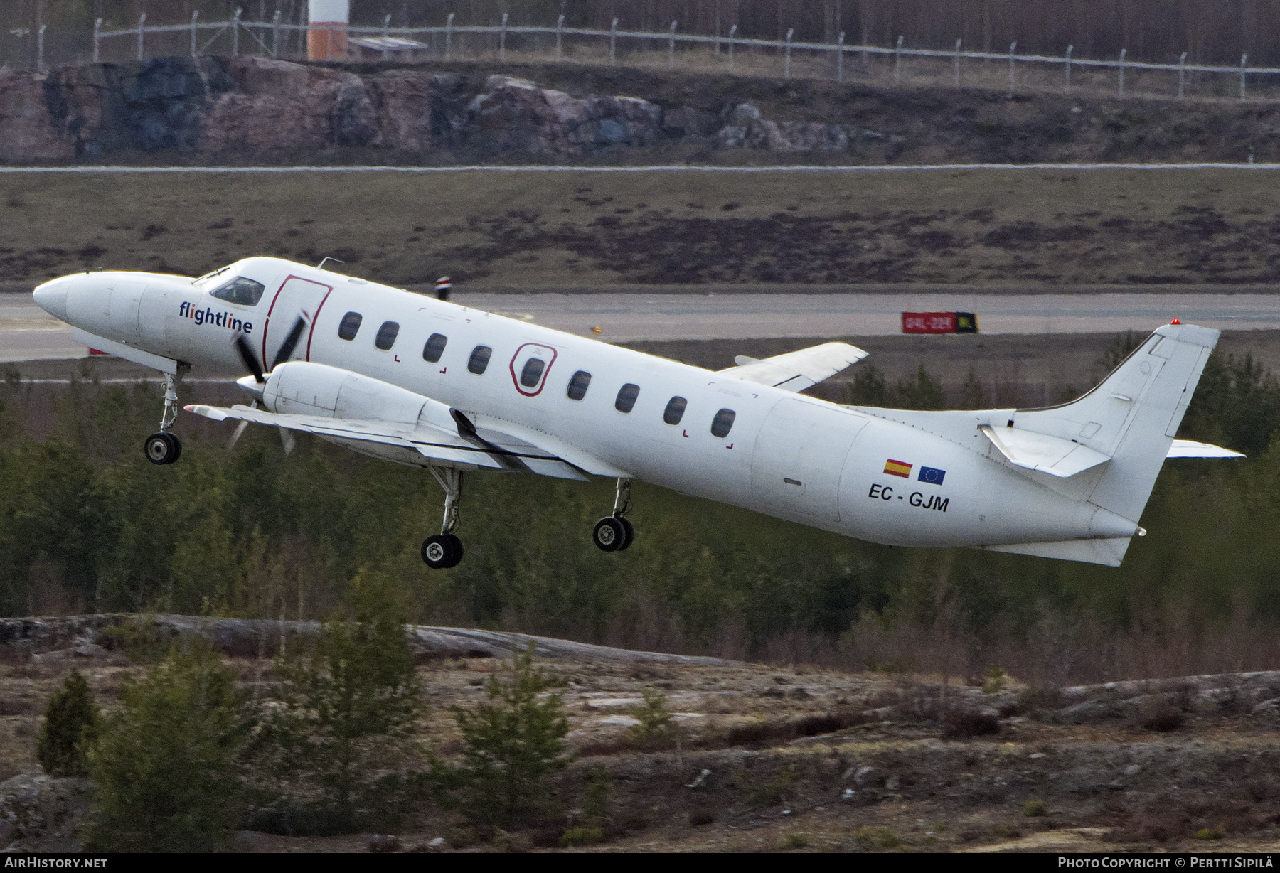
{"type": "MultiPolygon", "coordinates": [[[[40,717],[68,669],[41,661],[0,667],[0,778],[38,771],[40,717]]],[[[270,676],[270,663],[233,663],[246,682],[270,676]]],[[[477,701],[502,664],[420,667],[430,707],[420,733],[440,754],[460,750],[451,708],[477,701]]],[[[141,672],[81,666],[108,708],[141,672]]],[[[241,832],[233,849],[557,850],[599,769],[612,813],[603,840],[573,851],[1280,849],[1280,673],[1038,693],[1015,678],[950,677],[943,704],[936,676],[566,655],[540,667],[563,695],[579,754],[557,782],[557,814],[477,833],[422,809],[396,835],[241,832]],[[658,749],[630,727],[646,689],[676,713],[678,739],[658,749]]]]}

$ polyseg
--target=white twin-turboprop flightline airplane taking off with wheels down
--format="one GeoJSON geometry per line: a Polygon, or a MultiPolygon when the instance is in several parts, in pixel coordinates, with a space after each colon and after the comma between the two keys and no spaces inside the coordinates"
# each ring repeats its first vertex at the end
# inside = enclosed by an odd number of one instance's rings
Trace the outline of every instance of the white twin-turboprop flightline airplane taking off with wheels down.
{"type": "Polygon", "coordinates": [[[87,346],[165,376],[154,463],[193,365],[242,365],[252,402],[188,406],[426,467],[444,489],[430,567],[462,558],[471,470],[617,480],[594,530],[635,536],[634,479],[892,545],[969,545],[1119,566],[1166,457],[1240,457],[1175,440],[1219,332],[1158,328],[1080,399],[916,412],[797,392],[865,357],[824,343],[713,372],[319,268],[252,257],[200,279],[82,273],[36,302],[87,346]]]}

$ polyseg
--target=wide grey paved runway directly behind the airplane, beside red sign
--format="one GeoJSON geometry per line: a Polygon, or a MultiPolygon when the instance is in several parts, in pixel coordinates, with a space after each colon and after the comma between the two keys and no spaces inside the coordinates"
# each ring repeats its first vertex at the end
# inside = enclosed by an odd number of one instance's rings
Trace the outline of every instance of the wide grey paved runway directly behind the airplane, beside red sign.
{"type": "MultiPolygon", "coordinates": [[[[1224,330],[1280,329],[1271,294],[502,294],[463,306],[607,342],[872,337],[901,333],[901,312],[977,312],[982,333],[1148,332],[1170,319],[1224,330]],[[595,333],[593,328],[599,328],[595,333]]],[[[0,362],[84,357],[70,328],[29,294],[0,294],[0,362]]]]}

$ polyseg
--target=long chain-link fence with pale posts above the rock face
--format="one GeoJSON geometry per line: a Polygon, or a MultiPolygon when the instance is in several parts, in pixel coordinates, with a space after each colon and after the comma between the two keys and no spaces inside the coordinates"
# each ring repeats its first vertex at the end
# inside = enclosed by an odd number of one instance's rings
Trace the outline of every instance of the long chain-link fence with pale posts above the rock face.
{"type": "MultiPolygon", "coordinates": [[[[609,29],[564,27],[563,15],[545,27],[508,27],[506,22],[503,15],[498,26],[456,24],[454,15],[449,14],[440,27],[393,28],[388,15],[383,27],[343,28],[347,36],[343,58],[396,63],[563,59],[741,76],[998,88],[1009,93],[1059,91],[1117,97],[1280,99],[1280,68],[1251,68],[1248,55],[1243,55],[1238,65],[1188,64],[1187,52],[1176,64],[1157,64],[1129,61],[1124,50],[1112,59],[1076,58],[1071,46],[1062,56],[1025,55],[1018,54],[1016,42],[1007,52],[991,52],[968,51],[960,40],[950,49],[938,50],[905,46],[902,37],[892,46],[846,45],[844,33],[832,44],[794,41],[792,31],[783,40],[740,38],[736,28],[723,36],[703,36],[680,32],[677,22],[662,32],[618,29],[617,19],[609,29]]],[[[142,15],[137,26],[128,29],[106,31],[99,22],[92,31],[46,27],[10,31],[0,35],[0,64],[42,69],[177,55],[242,54],[301,60],[307,58],[308,31],[316,33],[306,24],[282,20],[279,14],[273,20],[260,22],[243,20],[238,13],[229,20],[204,22],[193,14],[184,24],[164,26],[148,26],[142,15]]],[[[326,37],[325,45],[335,44],[335,32],[319,33],[326,37]]]]}

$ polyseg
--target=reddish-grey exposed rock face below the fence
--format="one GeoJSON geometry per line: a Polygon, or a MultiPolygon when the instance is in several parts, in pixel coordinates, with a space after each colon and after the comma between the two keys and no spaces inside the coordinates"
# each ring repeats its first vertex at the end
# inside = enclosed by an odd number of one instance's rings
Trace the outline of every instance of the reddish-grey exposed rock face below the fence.
{"type": "Polygon", "coordinates": [[[658,141],[773,152],[841,151],[847,124],[774,122],[750,104],[719,113],[490,76],[372,76],[269,58],[159,58],[47,73],[0,68],[0,161],[177,150],[219,161],[287,161],[340,148],[558,159],[658,141]]]}

